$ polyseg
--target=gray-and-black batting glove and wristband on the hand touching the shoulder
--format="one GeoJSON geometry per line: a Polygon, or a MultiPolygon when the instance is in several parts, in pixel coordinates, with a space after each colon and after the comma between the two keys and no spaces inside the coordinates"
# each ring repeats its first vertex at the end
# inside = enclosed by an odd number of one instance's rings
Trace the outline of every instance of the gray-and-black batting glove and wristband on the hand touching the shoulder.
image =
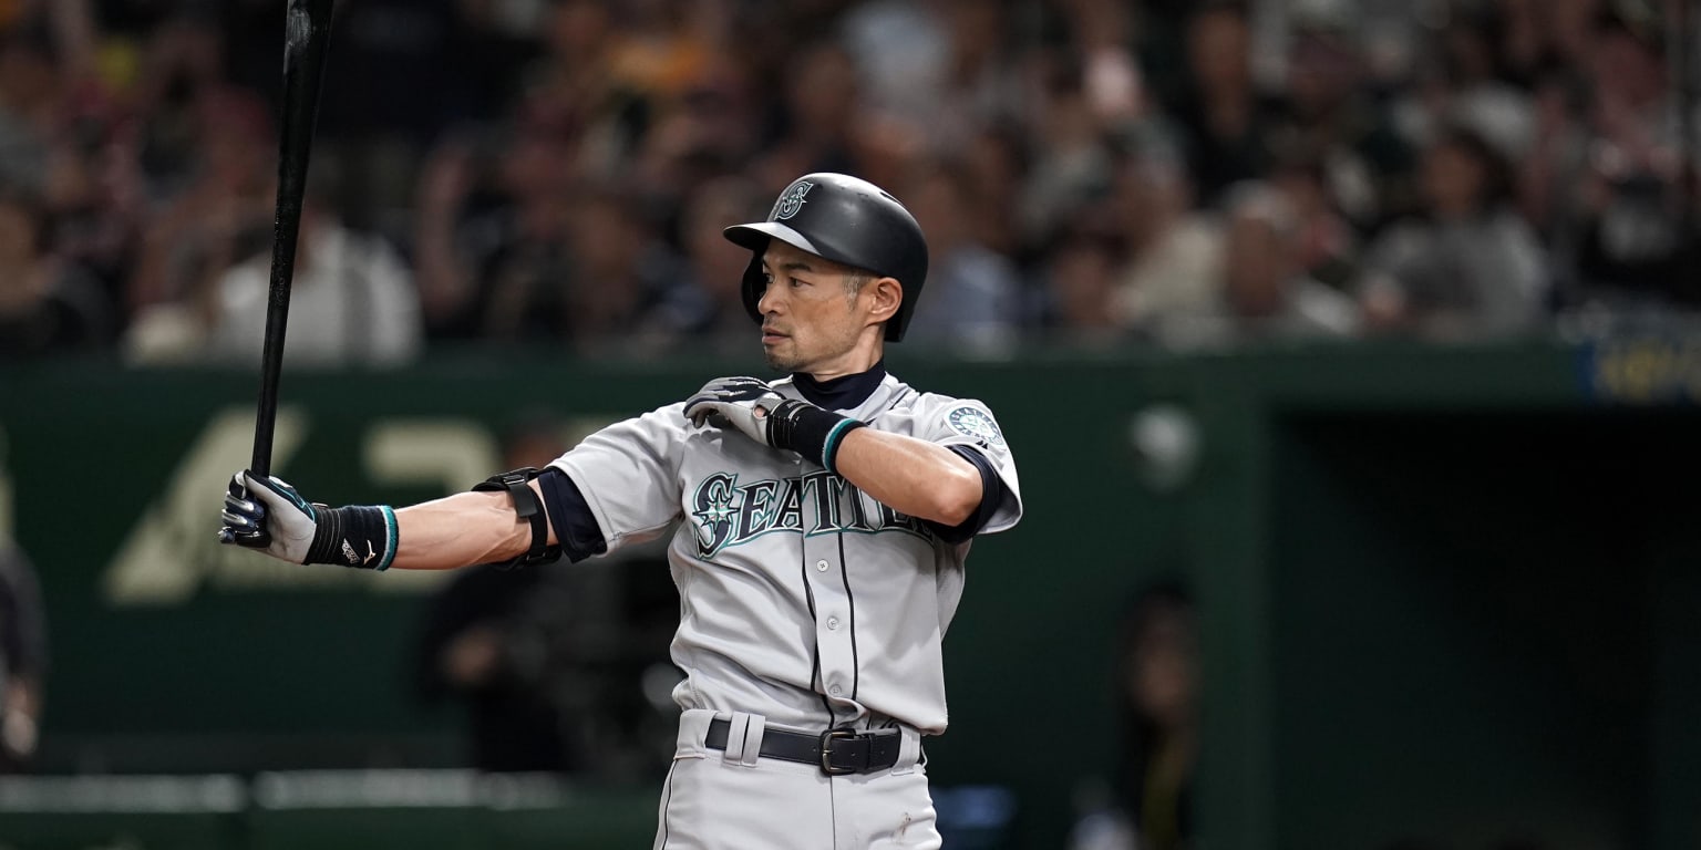
{"type": "Polygon", "coordinates": [[[686,401],[686,418],[697,425],[731,425],[755,442],[798,452],[828,471],[837,471],[833,461],[844,435],[862,427],[808,401],[788,400],[755,377],[709,381],[686,401]]]}

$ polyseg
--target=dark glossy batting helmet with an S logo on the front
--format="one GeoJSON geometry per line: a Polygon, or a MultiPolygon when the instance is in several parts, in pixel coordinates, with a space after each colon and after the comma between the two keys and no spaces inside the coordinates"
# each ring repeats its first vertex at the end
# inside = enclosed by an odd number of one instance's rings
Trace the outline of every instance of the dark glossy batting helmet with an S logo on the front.
{"type": "Polygon", "coordinates": [[[915,311],[915,299],[927,280],[927,240],[915,216],[885,189],[842,173],[806,173],[791,182],[767,221],[726,228],[726,238],[750,248],[743,275],[743,299],[750,318],[762,321],[757,303],[762,280],[762,252],[769,240],[781,240],[832,262],[893,277],[903,286],[903,303],[886,323],[886,338],[898,342],[915,311]]]}

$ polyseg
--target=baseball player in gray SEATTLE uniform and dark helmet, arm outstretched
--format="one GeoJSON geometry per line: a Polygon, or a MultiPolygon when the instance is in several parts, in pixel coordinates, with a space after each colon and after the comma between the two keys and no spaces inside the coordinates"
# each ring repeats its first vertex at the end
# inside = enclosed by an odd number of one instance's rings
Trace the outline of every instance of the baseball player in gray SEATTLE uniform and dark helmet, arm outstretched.
{"type": "Polygon", "coordinates": [[[886,372],[927,277],[915,219],[864,180],[794,180],[743,301],[789,377],[718,377],[543,471],[407,508],[308,503],[238,473],[223,542],[291,563],[442,570],[580,561],[675,527],[686,673],[657,848],[939,847],[922,736],[946,729],[941,639],[976,534],[1021,518],[980,401],[886,372]]]}

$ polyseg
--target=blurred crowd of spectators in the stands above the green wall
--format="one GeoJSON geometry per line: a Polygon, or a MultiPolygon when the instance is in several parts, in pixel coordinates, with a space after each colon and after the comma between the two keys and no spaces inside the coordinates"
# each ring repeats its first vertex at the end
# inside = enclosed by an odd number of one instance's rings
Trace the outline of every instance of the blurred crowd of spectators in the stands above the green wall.
{"type": "MultiPolygon", "coordinates": [[[[910,340],[1541,333],[1701,301],[1681,0],[338,0],[296,362],[754,354],[720,230],[915,212],[910,340]]],[[[0,355],[259,357],[284,0],[0,0],[0,355]]]]}

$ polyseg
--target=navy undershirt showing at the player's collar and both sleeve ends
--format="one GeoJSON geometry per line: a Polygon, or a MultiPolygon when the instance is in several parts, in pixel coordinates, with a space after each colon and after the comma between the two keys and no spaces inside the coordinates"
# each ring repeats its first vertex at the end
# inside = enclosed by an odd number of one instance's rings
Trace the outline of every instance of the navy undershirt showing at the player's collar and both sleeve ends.
{"type": "MultiPolygon", "coordinates": [[[[874,364],[866,372],[847,374],[828,381],[816,381],[813,376],[803,372],[791,376],[793,386],[798,388],[798,393],[808,403],[827,410],[852,410],[862,405],[874,394],[874,389],[878,389],[885,379],[885,360],[874,364]]],[[[951,450],[973,464],[975,471],[980,473],[980,507],[975,510],[975,515],[961,525],[953,527],[937,522],[927,522],[927,525],[934,529],[934,532],[939,534],[939,539],[947,544],[959,544],[973,537],[980,529],[985,529],[987,522],[992,520],[992,515],[997,513],[998,505],[1004,503],[1004,479],[998,478],[992,461],[981,452],[968,445],[953,445],[951,450]]],[[[590,505],[585,503],[585,495],[580,493],[578,486],[566,476],[566,473],[553,466],[546,468],[538,476],[538,484],[543,488],[544,512],[549,513],[549,524],[555,527],[555,536],[561,542],[561,554],[566,556],[568,561],[583,561],[585,558],[607,551],[607,542],[602,537],[602,530],[597,527],[597,518],[590,513],[590,505]]]]}

